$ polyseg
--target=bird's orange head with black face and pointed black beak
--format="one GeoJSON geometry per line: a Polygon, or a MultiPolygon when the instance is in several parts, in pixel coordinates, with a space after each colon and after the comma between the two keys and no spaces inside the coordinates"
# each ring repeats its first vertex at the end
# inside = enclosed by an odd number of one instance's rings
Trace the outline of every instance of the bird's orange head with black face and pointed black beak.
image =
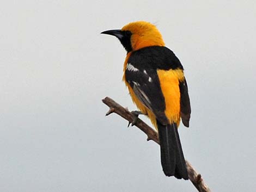
{"type": "Polygon", "coordinates": [[[145,21],[132,22],[121,29],[106,30],[102,34],[116,36],[127,52],[149,46],[164,46],[162,35],[156,26],[145,21]]]}

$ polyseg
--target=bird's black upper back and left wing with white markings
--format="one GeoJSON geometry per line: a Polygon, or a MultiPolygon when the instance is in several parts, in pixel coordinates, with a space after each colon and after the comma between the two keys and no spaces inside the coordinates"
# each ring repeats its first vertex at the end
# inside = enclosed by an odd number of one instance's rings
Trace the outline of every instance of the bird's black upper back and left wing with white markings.
{"type": "Polygon", "coordinates": [[[132,52],[125,70],[126,81],[139,100],[149,108],[163,125],[168,123],[157,70],[182,69],[175,54],[167,47],[152,46],[132,52]]]}

